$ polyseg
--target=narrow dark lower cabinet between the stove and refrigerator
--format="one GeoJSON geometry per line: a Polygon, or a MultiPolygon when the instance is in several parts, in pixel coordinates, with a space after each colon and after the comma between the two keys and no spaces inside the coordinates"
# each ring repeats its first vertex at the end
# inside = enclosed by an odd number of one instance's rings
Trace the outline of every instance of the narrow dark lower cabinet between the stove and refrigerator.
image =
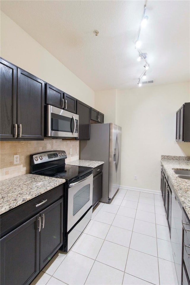
{"type": "Polygon", "coordinates": [[[93,195],[92,195],[92,205],[93,208],[102,198],[102,165],[94,168],[93,170],[93,195]]]}

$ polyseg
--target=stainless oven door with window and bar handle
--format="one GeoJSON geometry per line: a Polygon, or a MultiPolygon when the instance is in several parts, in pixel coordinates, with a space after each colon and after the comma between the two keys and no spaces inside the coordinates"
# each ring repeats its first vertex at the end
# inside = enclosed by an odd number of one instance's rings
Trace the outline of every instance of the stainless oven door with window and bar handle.
{"type": "Polygon", "coordinates": [[[93,174],[68,185],[67,232],[92,206],[93,174]]]}

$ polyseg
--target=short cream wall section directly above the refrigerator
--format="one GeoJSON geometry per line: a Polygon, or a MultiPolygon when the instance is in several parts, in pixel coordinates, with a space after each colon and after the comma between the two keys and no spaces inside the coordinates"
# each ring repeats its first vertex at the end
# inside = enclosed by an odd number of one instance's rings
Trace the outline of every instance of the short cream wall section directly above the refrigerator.
{"type": "Polygon", "coordinates": [[[104,123],[114,123],[116,119],[116,90],[97,91],[95,108],[104,113],[104,123]]]}

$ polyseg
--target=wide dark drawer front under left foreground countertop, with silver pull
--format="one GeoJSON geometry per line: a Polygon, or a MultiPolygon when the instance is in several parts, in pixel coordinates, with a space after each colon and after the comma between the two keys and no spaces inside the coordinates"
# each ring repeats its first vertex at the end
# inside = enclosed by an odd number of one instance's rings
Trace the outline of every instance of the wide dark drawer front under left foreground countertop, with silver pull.
{"type": "Polygon", "coordinates": [[[1,215],[1,237],[18,227],[20,224],[45,209],[52,202],[63,196],[63,185],[59,185],[28,202],[9,210],[1,215]],[[37,204],[47,200],[42,205],[37,204]]]}

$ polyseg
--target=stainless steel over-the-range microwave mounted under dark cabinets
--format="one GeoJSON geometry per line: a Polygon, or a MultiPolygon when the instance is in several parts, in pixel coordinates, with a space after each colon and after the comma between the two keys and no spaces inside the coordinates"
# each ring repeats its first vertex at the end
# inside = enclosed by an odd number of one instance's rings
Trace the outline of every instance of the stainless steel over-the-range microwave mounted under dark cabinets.
{"type": "Polygon", "coordinates": [[[79,115],[47,105],[47,137],[78,137],[79,115]]]}

